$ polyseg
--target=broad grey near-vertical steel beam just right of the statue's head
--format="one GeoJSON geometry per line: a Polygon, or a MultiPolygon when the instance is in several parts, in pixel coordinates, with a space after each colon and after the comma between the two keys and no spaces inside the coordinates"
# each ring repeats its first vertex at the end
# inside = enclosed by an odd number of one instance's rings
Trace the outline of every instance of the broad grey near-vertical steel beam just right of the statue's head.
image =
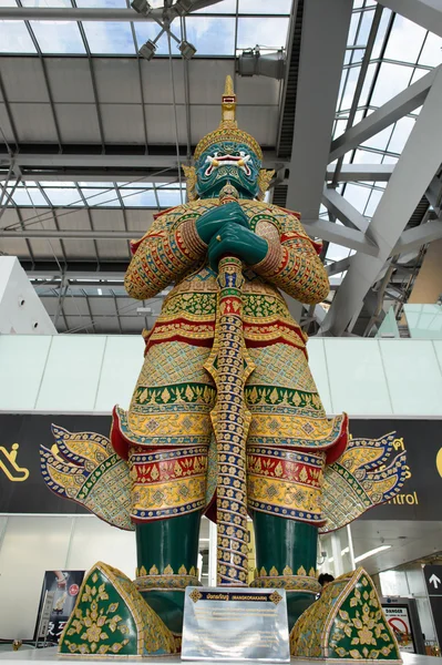
{"type": "Polygon", "coordinates": [[[319,214],[351,20],[351,0],[304,3],[287,207],[319,214]]]}

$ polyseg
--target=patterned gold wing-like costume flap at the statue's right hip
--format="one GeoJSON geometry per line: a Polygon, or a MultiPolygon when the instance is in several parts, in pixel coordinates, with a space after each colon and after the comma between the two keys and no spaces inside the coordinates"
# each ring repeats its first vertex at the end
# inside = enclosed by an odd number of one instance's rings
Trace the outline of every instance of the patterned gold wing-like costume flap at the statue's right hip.
{"type": "Polygon", "coordinates": [[[349,524],[401,491],[407,480],[407,453],[391,460],[394,434],[376,440],[350,439],[343,454],[326,467],[322,512],[327,523],[321,533],[349,524]]]}

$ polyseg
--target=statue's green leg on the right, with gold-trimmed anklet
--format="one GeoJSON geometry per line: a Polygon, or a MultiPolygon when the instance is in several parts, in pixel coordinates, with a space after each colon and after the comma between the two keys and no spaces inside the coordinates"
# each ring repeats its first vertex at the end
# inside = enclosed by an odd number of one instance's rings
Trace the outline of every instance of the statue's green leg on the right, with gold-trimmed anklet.
{"type": "Polygon", "coordinates": [[[256,565],[261,580],[256,585],[271,586],[273,581],[287,586],[289,630],[315,601],[316,582],[309,573],[316,570],[318,531],[316,526],[276,515],[253,513],[256,565]],[[263,571],[264,569],[264,571],[263,571]],[[276,570],[275,570],[276,569],[276,570]],[[310,590],[304,590],[307,585],[310,590]]]}

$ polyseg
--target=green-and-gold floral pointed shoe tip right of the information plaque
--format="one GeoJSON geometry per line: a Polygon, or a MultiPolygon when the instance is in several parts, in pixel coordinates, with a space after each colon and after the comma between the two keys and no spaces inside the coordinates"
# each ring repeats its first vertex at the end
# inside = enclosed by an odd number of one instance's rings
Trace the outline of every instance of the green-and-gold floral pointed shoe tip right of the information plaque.
{"type": "Polygon", "coordinates": [[[290,654],[327,661],[402,663],[371,577],[363,569],[328,584],[290,633],[290,654]]]}

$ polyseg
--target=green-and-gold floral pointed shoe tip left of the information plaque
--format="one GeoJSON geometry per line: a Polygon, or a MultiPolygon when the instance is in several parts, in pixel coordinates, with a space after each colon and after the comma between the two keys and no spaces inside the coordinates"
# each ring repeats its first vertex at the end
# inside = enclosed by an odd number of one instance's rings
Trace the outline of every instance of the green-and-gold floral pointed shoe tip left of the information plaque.
{"type": "Polygon", "coordinates": [[[86,574],[60,638],[59,653],[72,656],[162,656],[177,643],[135,584],[105,563],[86,574]]]}

